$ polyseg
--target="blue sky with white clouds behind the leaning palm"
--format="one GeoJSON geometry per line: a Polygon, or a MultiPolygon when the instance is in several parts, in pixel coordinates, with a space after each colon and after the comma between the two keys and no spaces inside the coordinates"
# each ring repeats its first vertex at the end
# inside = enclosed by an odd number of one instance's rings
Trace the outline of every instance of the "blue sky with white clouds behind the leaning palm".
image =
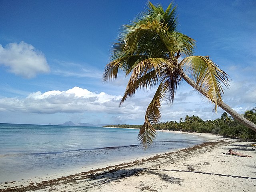
{"type": "MultiPolygon", "coordinates": [[[[164,8],[166,0],[152,0],[164,8]]],[[[0,0],[0,122],[142,124],[154,92],[139,91],[118,107],[127,78],[103,83],[120,26],[146,0],[0,0]]],[[[223,99],[239,113],[256,106],[256,1],[177,0],[178,30],[196,40],[232,81],[223,99]]],[[[183,82],[162,121],[186,115],[219,118],[183,82]]]]}

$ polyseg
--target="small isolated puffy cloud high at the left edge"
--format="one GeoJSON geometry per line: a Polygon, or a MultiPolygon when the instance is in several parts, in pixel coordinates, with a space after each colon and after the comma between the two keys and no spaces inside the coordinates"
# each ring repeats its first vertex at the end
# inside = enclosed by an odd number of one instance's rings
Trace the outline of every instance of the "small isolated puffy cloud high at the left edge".
{"type": "Polygon", "coordinates": [[[0,65],[11,73],[24,78],[33,78],[38,73],[50,72],[44,54],[25,42],[0,45],[0,65]]]}

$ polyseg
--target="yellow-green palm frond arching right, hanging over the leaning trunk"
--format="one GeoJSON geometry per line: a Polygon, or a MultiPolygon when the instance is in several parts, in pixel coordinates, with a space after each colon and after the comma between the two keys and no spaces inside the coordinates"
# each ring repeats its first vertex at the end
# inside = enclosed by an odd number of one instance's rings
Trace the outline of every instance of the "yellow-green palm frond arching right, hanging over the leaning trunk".
{"type": "Polygon", "coordinates": [[[189,56],[181,62],[199,89],[204,90],[205,96],[214,104],[217,112],[218,104],[222,104],[224,87],[228,88],[229,76],[209,59],[208,56],[189,56]]]}

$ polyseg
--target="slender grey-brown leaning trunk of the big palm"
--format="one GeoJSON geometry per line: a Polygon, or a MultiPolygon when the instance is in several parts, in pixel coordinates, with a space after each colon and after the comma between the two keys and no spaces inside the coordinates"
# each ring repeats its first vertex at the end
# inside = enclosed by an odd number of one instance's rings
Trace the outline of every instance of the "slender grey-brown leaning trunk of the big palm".
{"type": "MultiPolygon", "coordinates": [[[[202,88],[199,88],[199,86],[188,76],[186,75],[183,71],[180,73],[182,78],[194,89],[198,90],[201,94],[206,96],[206,92],[202,90],[202,88]]],[[[207,96],[206,96],[207,97],[207,96]]],[[[218,103],[218,106],[222,108],[224,111],[226,111],[228,114],[230,114],[233,118],[244,124],[246,127],[254,130],[256,132],[256,124],[253,122],[250,122],[248,119],[244,118],[242,115],[240,115],[238,112],[233,110],[230,106],[225,104],[224,102],[218,103]]]]}

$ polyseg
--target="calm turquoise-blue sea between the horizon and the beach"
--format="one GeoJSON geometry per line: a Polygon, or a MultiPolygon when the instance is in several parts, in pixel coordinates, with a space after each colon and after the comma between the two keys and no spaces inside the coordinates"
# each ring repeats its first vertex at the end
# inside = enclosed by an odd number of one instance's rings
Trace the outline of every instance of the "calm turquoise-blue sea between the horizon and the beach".
{"type": "Polygon", "coordinates": [[[187,148],[195,135],[158,132],[144,151],[139,130],[123,128],[0,124],[0,182],[187,148]]]}

